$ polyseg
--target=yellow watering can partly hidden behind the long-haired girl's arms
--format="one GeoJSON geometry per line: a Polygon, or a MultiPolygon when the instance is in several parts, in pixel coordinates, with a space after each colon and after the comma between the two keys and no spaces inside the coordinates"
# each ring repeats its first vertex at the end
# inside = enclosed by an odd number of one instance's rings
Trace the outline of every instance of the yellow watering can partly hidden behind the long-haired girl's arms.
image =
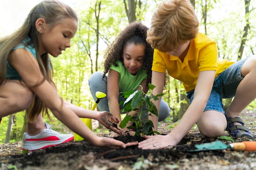
{"type": "MultiPolygon", "coordinates": [[[[97,97],[97,100],[95,101],[94,105],[92,106],[92,110],[94,110],[96,108],[96,106],[98,105],[99,101],[102,98],[106,97],[106,94],[103,92],[96,92],[96,97],[97,97]]],[[[83,107],[86,109],[85,102],[80,102],[77,106],[83,107]]],[[[92,130],[92,119],[90,119],[90,118],[80,118],[80,119],[86,124],[86,126],[88,126],[89,129],[92,130]]],[[[83,140],[83,137],[74,133],[74,140],[76,140],[76,141],[83,140]]]]}

